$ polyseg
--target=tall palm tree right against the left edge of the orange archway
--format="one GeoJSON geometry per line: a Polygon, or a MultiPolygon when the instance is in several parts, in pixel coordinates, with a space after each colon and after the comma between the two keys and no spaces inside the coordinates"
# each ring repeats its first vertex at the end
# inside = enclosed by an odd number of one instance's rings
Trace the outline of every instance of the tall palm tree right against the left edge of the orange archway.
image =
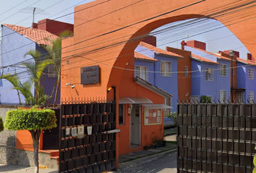
{"type": "Polygon", "coordinates": [[[54,66],[56,67],[56,71],[57,71],[57,80],[54,85],[54,89],[51,93],[51,98],[48,102],[48,105],[51,103],[51,99],[54,96],[55,90],[56,90],[56,92],[55,92],[55,97],[54,97],[54,105],[56,105],[57,96],[59,94],[59,85],[61,82],[61,43],[62,43],[62,38],[69,37],[71,35],[73,35],[73,32],[71,32],[69,30],[64,31],[55,40],[47,39],[48,41],[51,42],[51,44],[46,45],[44,47],[46,49],[46,51],[48,52],[48,58],[51,58],[51,60],[54,62],[54,66]]]}

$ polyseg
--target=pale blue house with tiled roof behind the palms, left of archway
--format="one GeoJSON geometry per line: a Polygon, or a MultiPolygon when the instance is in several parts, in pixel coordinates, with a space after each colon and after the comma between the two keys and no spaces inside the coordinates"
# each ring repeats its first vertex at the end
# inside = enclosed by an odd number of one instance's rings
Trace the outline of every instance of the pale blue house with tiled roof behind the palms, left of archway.
{"type": "MultiPolygon", "coordinates": [[[[46,30],[38,30],[29,27],[20,27],[17,25],[1,25],[1,74],[17,74],[20,76],[20,81],[24,83],[29,79],[27,69],[22,66],[23,62],[33,62],[31,56],[25,56],[29,50],[34,49],[40,53],[46,53],[42,45],[48,45],[48,39],[56,39],[56,35],[47,32],[46,30]]],[[[56,68],[54,65],[49,65],[44,71],[41,78],[41,84],[46,94],[51,95],[52,89],[56,82],[56,68]]],[[[12,84],[6,79],[1,79],[0,82],[0,102],[14,104],[19,102],[18,93],[12,89],[12,84]]],[[[34,86],[31,92],[35,94],[34,86]]],[[[25,102],[25,98],[20,94],[21,102],[25,102]]],[[[59,102],[59,97],[58,97],[59,102]]],[[[53,102],[53,100],[52,100],[53,102]]]]}

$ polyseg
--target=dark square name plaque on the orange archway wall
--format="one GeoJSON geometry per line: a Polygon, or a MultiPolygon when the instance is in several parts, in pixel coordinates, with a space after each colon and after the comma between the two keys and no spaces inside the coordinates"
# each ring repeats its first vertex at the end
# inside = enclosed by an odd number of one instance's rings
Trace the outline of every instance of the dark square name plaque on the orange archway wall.
{"type": "Polygon", "coordinates": [[[81,84],[100,83],[99,66],[88,66],[81,68],[81,84]]]}

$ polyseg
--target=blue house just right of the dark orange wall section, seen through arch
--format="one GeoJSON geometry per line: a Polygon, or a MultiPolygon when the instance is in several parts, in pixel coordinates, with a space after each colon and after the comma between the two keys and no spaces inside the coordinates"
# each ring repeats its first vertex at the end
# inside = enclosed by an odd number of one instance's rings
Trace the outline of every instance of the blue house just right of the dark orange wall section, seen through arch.
{"type": "Polygon", "coordinates": [[[191,40],[183,46],[192,53],[191,99],[200,101],[206,95],[212,101],[227,102],[231,98],[231,59],[206,51],[204,44],[191,40]]]}

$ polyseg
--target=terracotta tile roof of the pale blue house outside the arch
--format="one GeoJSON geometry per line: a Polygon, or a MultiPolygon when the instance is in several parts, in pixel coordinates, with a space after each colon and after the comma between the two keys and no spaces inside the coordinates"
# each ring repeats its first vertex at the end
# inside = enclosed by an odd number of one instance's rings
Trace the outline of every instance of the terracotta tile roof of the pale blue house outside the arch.
{"type": "Polygon", "coordinates": [[[35,43],[38,43],[40,45],[49,45],[51,42],[49,42],[47,39],[55,40],[58,38],[57,35],[51,34],[51,32],[48,32],[46,30],[39,30],[34,29],[30,27],[21,27],[17,25],[10,25],[10,24],[2,24],[6,27],[9,27],[9,29],[14,30],[15,32],[18,32],[20,35],[24,35],[25,37],[29,38],[30,40],[33,40],[35,43]]]}

